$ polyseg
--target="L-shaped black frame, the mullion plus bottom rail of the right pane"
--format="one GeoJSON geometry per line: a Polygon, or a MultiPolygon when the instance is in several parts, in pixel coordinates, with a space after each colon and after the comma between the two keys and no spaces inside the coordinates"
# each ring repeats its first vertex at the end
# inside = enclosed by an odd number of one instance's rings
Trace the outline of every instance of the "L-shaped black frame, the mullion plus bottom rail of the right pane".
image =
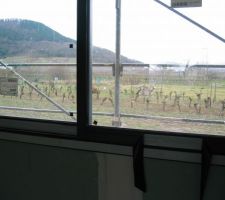
{"type": "Polygon", "coordinates": [[[220,135],[140,130],[91,125],[91,4],[92,0],[78,0],[77,27],[77,126],[78,137],[88,141],[129,145],[140,135],[170,135],[192,138],[224,138],[220,135]],[[85,91],[85,94],[84,92],[85,91]]]}

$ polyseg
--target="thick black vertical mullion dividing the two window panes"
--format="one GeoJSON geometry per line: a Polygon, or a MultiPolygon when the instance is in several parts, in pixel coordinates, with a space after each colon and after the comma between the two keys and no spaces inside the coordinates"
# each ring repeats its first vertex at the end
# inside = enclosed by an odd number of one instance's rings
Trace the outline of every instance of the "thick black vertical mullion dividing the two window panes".
{"type": "Polygon", "coordinates": [[[77,126],[78,134],[91,122],[91,0],[77,5],[77,126]]]}

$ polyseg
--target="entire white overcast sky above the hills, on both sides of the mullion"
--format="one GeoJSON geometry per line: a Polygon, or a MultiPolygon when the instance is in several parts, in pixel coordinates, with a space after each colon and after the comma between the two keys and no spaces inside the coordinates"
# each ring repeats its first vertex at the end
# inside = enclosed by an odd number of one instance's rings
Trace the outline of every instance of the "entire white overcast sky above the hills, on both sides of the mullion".
{"type": "MultiPolygon", "coordinates": [[[[225,38],[225,1],[186,14],[225,38]]],[[[163,0],[170,5],[170,0],[163,0]]],[[[0,18],[31,19],[76,39],[76,0],[7,0],[0,18]]],[[[225,44],[154,2],[122,0],[122,54],[146,63],[223,63],[225,44]]],[[[93,0],[93,43],[115,51],[115,0],[93,0]]]]}

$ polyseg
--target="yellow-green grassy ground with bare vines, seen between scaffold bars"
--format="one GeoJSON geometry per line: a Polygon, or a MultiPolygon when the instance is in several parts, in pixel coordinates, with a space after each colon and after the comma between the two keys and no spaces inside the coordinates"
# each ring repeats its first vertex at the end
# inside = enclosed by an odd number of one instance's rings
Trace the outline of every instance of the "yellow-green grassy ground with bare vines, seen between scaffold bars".
{"type": "MultiPolygon", "coordinates": [[[[9,61],[12,60],[13,59],[9,59],[9,61]]],[[[17,60],[20,62],[24,61],[22,58],[18,58],[17,60]]],[[[33,60],[28,61],[32,62],[33,60]]],[[[40,58],[38,61],[44,62],[45,60],[40,58]]],[[[59,62],[56,58],[54,58],[52,62],[53,61],[59,62]]],[[[64,59],[60,62],[72,62],[72,60],[64,59]]],[[[37,86],[42,92],[60,104],[63,108],[66,110],[76,111],[76,81],[71,79],[71,77],[76,76],[75,71],[71,71],[71,69],[69,69],[69,73],[68,70],[65,73],[65,70],[60,69],[60,71],[58,68],[43,71],[43,68],[38,69],[35,67],[17,70],[32,81],[33,85],[37,86]],[[60,73],[57,74],[56,72],[60,73]],[[60,75],[63,75],[63,78],[65,79],[64,81],[53,81],[54,77],[60,75]],[[43,77],[45,77],[45,79],[43,79],[43,77]]],[[[145,72],[139,71],[137,74],[124,74],[123,77],[121,77],[121,113],[189,119],[224,120],[224,110],[221,109],[222,102],[225,99],[225,81],[223,79],[214,79],[210,81],[196,80],[193,82],[182,79],[178,81],[171,81],[169,79],[165,80],[165,77],[164,80],[162,80],[160,77],[155,78],[154,74],[151,76],[152,77],[145,72]],[[139,92],[139,95],[137,95],[140,89],[142,90],[139,92]],[[148,92],[146,93],[144,90],[147,90],[148,92]],[[152,91],[149,92],[149,90],[152,91]],[[198,94],[201,94],[200,99],[198,94]],[[179,97],[179,105],[175,102],[176,97],[179,97]],[[190,98],[192,99],[191,103],[190,98]],[[207,98],[211,99],[211,107],[208,108],[205,105],[205,100],[207,98]]],[[[94,73],[93,88],[97,89],[99,94],[92,94],[93,112],[114,112],[113,80],[113,76],[108,72],[100,74],[94,73]],[[99,77],[100,81],[97,80],[99,77]]],[[[18,96],[11,97],[0,95],[0,106],[57,109],[54,105],[49,103],[45,98],[42,98],[38,93],[31,90],[21,81],[19,82],[18,96]]],[[[21,112],[2,109],[0,109],[0,112],[1,115],[9,116],[71,120],[70,117],[63,113],[21,112]]],[[[93,115],[93,120],[97,120],[99,125],[112,125],[112,117],[93,115]]],[[[222,124],[127,117],[122,117],[121,120],[122,126],[128,128],[225,134],[225,126],[222,124]]]]}

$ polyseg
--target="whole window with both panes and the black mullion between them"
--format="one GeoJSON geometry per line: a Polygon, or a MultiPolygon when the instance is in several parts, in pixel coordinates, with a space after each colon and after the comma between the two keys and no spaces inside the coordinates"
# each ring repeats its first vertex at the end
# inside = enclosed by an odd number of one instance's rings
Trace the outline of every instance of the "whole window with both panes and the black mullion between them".
{"type": "Polygon", "coordinates": [[[1,116],[224,134],[222,0],[90,2],[3,4],[1,116]]]}

